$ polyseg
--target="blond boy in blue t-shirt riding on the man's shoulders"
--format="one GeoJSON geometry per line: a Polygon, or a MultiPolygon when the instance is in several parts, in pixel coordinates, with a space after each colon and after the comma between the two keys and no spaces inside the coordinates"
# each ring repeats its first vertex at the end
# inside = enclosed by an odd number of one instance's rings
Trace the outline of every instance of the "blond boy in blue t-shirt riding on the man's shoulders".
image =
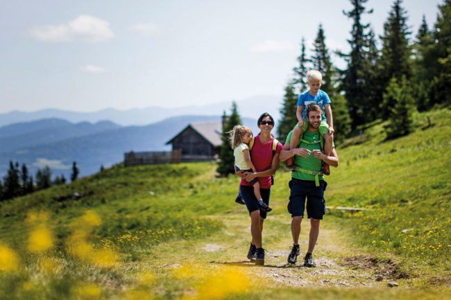
{"type": "MultiPolygon", "coordinates": [[[[325,155],[330,155],[330,152],[332,152],[334,123],[332,118],[332,108],[330,107],[331,101],[325,91],[320,89],[322,83],[323,76],[321,75],[320,71],[310,70],[307,72],[307,85],[309,85],[309,90],[300,94],[298,98],[298,108],[296,109],[296,116],[298,117],[299,123],[293,128],[293,135],[291,135],[290,139],[290,149],[298,147],[300,136],[302,136],[303,132],[307,130],[307,116],[305,116],[307,107],[309,107],[309,105],[311,104],[316,104],[319,105],[319,107],[321,107],[321,109],[323,110],[323,121],[321,121],[321,124],[319,126],[319,132],[325,140],[325,155]]],[[[294,166],[294,161],[292,158],[287,161],[287,166],[289,168],[294,166]]],[[[329,165],[323,164],[321,171],[325,175],[329,175],[329,165]]]]}

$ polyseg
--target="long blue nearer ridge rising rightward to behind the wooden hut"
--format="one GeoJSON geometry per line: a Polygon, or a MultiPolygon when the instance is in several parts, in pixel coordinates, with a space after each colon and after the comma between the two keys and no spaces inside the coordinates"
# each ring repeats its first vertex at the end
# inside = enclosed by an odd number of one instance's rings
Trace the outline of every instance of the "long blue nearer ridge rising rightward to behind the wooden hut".
{"type": "MultiPolygon", "coordinates": [[[[169,139],[189,123],[203,121],[221,121],[221,116],[177,116],[146,126],[117,127],[90,135],[16,148],[0,153],[0,175],[6,173],[10,160],[26,164],[33,175],[37,168],[48,165],[54,175],[64,174],[66,177],[69,177],[72,161],[76,161],[80,175],[90,175],[97,172],[101,165],[106,167],[123,161],[124,152],[170,150],[171,146],[165,145],[169,139]]],[[[257,131],[255,119],[243,118],[243,123],[257,131]]]]}

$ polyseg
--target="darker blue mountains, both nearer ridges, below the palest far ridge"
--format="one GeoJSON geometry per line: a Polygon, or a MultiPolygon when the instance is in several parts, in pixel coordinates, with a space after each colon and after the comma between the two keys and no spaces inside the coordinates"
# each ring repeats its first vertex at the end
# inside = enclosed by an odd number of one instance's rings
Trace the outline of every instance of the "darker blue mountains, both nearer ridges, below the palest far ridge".
{"type": "MultiPolygon", "coordinates": [[[[69,178],[71,164],[77,162],[80,176],[96,173],[101,166],[124,160],[124,152],[171,150],[165,145],[189,123],[221,121],[218,116],[176,116],[144,126],[121,126],[110,121],[71,123],[50,118],[0,127],[0,175],[9,161],[26,164],[30,173],[49,166],[53,175],[69,178]]],[[[242,118],[257,132],[257,121],[242,118]]]]}

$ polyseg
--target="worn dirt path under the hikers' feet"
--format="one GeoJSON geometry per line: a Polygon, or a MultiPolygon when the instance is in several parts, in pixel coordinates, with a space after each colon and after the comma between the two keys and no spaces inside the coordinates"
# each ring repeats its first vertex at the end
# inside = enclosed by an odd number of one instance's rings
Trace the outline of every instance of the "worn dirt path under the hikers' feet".
{"type": "MultiPolygon", "coordinates": [[[[217,217],[215,217],[217,218],[217,217]]],[[[225,227],[220,233],[205,240],[167,243],[160,245],[149,261],[154,267],[194,265],[215,268],[221,265],[239,267],[251,278],[259,276],[274,287],[386,287],[398,281],[401,274],[391,261],[379,261],[352,248],[348,238],[337,229],[339,219],[327,216],[321,224],[321,233],[314,257],[316,268],[303,267],[307,249],[309,222],[303,221],[300,249],[296,265],[287,264],[292,245],[288,213],[276,211],[264,224],[264,267],[250,263],[246,254],[250,241],[250,219],[244,207],[224,215],[225,227]],[[176,253],[173,249],[177,249],[176,253]]],[[[407,276],[407,275],[406,275],[407,276]]]]}

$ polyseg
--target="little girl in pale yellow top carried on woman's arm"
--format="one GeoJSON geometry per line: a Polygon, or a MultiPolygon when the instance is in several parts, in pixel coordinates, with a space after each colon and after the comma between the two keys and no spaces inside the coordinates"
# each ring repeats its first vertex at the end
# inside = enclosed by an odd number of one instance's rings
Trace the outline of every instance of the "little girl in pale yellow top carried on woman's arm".
{"type": "MultiPolygon", "coordinates": [[[[252,139],[252,130],[249,127],[243,125],[236,125],[233,130],[229,132],[230,134],[230,145],[232,145],[233,156],[235,157],[235,171],[237,173],[245,172],[257,172],[254,164],[250,160],[249,153],[249,141],[252,139]]],[[[266,205],[262,200],[262,195],[260,195],[260,184],[258,178],[255,177],[250,182],[254,188],[254,195],[257,198],[257,205],[262,211],[271,211],[271,207],[266,205]]],[[[241,195],[237,196],[237,199],[241,199],[241,195]]],[[[237,202],[237,200],[235,200],[237,202]]]]}

